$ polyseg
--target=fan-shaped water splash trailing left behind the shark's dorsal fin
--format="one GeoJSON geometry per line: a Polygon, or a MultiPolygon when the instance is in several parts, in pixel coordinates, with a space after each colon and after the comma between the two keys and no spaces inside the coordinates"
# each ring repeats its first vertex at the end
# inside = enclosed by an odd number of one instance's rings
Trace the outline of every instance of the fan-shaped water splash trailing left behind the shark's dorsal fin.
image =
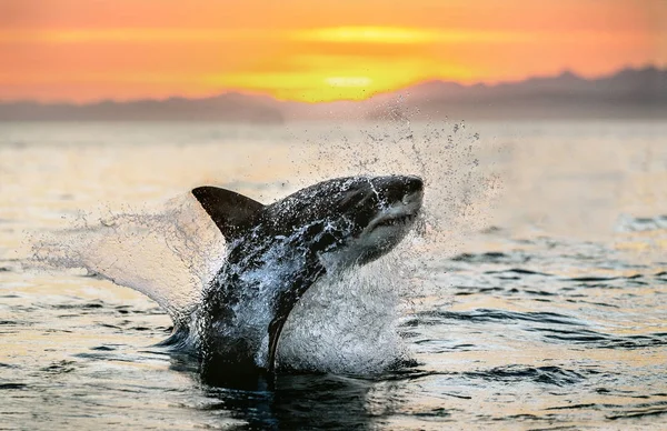
{"type": "Polygon", "coordinates": [[[37,240],[33,260],[138,290],[182,322],[225,261],[225,241],[188,193],[141,212],[81,216],[76,228],[37,240]]]}

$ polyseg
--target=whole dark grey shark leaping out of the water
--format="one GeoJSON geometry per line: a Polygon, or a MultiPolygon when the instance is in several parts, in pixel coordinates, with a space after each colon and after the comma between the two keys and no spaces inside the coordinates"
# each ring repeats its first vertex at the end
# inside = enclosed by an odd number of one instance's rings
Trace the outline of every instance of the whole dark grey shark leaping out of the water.
{"type": "Polygon", "coordinates": [[[396,247],[420,210],[422,189],[412,176],[348,177],[269,206],[225,189],[193,189],[228,247],[198,311],[202,373],[273,372],[297,301],[326,272],[396,247]]]}

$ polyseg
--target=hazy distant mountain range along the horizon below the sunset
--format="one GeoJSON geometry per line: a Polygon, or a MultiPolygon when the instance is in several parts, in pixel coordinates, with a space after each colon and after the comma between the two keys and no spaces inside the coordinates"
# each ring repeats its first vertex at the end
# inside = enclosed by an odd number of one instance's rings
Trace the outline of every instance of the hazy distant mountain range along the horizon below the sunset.
{"type": "Polygon", "coordinates": [[[229,121],[579,119],[667,120],[667,69],[624,69],[598,79],[571,72],[495,86],[430,81],[369,100],[327,103],[277,101],[236,92],[205,99],[170,98],[89,104],[0,102],[0,121],[229,121]]]}

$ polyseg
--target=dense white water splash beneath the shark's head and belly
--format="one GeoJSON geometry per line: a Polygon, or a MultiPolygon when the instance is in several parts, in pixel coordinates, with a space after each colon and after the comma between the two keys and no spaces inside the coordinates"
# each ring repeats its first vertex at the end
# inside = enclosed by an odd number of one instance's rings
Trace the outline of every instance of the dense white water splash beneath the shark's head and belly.
{"type": "Polygon", "coordinates": [[[327,277],[297,303],[278,351],[280,364],[334,373],[376,374],[408,358],[398,335],[399,254],[327,277]]]}

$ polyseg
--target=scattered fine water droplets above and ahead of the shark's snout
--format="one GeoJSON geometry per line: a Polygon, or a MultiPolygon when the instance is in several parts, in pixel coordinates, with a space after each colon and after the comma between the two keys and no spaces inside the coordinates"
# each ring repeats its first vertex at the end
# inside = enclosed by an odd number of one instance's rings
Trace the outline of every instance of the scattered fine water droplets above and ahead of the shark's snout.
{"type": "MultiPolygon", "coordinates": [[[[471,232],[490,225],[490,210],[502,189],[500,144],[465,121],[420,121],[402,101],[386,108],[387,121],[310,130],[310,162],[298,177],[326,179],[356,174],[417,174],[425,180],[422,247],[456,253],[471,232]],[[312,136],[315,133],[315,136],[312,136]]],[[[301,150],[302,151],[302,150],[301,150]]]]}

